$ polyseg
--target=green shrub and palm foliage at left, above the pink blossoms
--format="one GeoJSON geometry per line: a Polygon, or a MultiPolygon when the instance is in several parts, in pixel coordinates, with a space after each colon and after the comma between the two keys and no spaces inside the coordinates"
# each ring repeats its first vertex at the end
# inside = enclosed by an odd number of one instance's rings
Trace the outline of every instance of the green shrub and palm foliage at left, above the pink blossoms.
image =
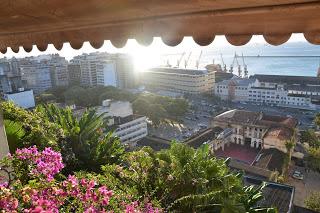
{"type": "Polygon", "coordinates": [[[1,107],[11,152],[33,145],[41,150],[53,147],[62,153],[67,174],[79,170],[98,171],[101,165],[121,161],[124,148],[112,132],[104,132],[103,118],[94,110],[86,111],[78,120],[71,109],[53,104],[34,111],[7,102],[1,107]]]}

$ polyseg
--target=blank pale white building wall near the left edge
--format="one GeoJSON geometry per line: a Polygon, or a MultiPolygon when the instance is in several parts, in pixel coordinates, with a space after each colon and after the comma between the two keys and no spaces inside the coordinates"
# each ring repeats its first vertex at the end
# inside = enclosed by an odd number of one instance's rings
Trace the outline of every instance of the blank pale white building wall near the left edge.
{"type": "Polygon", "coordinates": [[[14,104],[22,108],[28,109],[35,107],[34,95],[32,90],[5,94],[4,98],[7,101],[12,101],[14,104]]]}

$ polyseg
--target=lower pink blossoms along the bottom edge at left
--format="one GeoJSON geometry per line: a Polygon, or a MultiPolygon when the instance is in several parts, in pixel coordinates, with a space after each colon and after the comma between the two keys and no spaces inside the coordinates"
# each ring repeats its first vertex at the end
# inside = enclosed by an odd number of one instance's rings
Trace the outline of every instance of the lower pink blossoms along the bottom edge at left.
{"type": "MultiPolygon", "coordinates": [[[[0,209],[10,212],[58,213],[62,207],[69,208],[71,212],[79,209],[85,213],[113,212],[109,206],[112,190],[104,185],[97,185],[93,180],[79,180],[75,176],[39,189],[24,187],[19,192],[16,191],[16,195],[12,188],[0,187],[0,190],[0,209]]],[[[126,213],[159,212],[150,203],[143,209],[138,202],[123,203],[121,206],[126,213]]]]}

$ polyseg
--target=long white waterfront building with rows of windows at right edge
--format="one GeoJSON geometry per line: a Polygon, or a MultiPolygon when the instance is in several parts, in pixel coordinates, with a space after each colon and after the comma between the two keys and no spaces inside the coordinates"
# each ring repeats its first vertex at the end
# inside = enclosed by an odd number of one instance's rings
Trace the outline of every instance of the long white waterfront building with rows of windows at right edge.
{"type": "Polygon", "coordinates": [[[312,90],[295,91],[293,88],[304,86],[298,86],[296,83],[285,84],[261,80],[261,78],[259,80],[254,76],[249,79],[235,76],[229,80],[216,83],[215,95],[223,100],[234,102],[251,102],[311,110],[320,108],[320,105],[315,101],[320,97],[317,86],[311,87],[312,90]]]}

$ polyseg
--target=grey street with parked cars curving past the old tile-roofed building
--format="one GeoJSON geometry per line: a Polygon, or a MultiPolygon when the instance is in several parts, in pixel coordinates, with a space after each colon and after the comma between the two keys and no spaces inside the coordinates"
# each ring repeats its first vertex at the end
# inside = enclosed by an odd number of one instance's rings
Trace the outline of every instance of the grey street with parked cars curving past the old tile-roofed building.
{"type": "Polygon", "coordinates": [[[269,115],[291,116],[299,122],[299,130],[315,128],[313,119],[317,112],[305,111],[293,108],[278,106],[261,106],[249,103],[228,103],[225,101],[214,101],[203,96],[192,96],[188,98],[191,109],[183,119],[183,124],[171,126],[161,124],[157,129],[150,127],[149,134],[168,140],[183,141],[191,135],[196,134],[200,129],[210,126],[212,117],[231,109],[249,110],[264,112],[269,115]]]}

